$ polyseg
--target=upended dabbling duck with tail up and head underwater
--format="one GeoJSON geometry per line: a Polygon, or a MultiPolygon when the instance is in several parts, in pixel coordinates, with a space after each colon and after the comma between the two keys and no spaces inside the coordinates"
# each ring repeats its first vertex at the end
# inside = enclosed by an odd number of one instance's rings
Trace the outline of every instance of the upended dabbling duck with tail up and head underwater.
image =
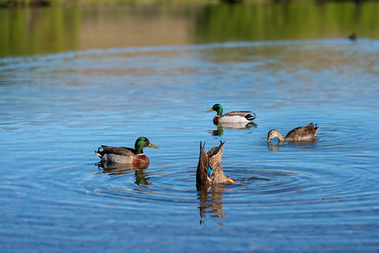
{"type": "Polygon", "coordinates": [[[211,150],[206,152],[204,145],[201,145],[200,141],[200,155],[199,164],[197,164],[196,171],[196,184],[198,187],[210,186],[214,183],[234,183],[232,179],[225,176],[224,171],[222,171],[221,157],[224,151],[225,141],[220,141],[218,147],[213,147],[211,150]]]}

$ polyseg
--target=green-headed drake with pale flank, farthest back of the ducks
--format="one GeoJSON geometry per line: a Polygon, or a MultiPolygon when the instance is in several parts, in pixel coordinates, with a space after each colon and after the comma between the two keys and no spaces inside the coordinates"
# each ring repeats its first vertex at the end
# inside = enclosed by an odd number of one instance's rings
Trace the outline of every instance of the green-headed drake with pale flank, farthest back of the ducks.
{"type": "Polygon", "coordinates": [[[255,113],[251,115],[248,111],[228,112],[222,115],[222,106],[220,104],[213,105],[211,110],[206,112],[217,112],[217,115],[213,118],[213,124],[225,123],[225,122],[251,122],[256,118],[255,113]]]}

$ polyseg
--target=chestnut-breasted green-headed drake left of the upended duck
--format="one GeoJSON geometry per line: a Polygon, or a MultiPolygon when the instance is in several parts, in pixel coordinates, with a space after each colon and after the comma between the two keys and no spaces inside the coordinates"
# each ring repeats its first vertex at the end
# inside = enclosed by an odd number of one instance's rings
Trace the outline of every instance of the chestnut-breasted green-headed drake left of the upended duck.
{"type": "Polygon", "coordinates": [[[98,148],[95,154],[101,158],[102,162],[114,162],[118,164],[145,164],[149,163],[149,158],[143,153],[143,148],[158,148],[152,145],[146,137],[140,137],[135,141],[133,148],[114,148],[102,145],[102,151],[98,148]]]}

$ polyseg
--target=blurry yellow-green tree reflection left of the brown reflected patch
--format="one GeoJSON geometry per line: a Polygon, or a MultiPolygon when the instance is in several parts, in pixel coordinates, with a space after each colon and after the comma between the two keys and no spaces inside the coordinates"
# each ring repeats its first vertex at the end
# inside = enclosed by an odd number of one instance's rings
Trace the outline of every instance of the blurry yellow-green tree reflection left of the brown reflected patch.
{"type": "Polygon", "coordinates": [[[0,56],[77,49],[79,8],[0,8],[0,56]]]}

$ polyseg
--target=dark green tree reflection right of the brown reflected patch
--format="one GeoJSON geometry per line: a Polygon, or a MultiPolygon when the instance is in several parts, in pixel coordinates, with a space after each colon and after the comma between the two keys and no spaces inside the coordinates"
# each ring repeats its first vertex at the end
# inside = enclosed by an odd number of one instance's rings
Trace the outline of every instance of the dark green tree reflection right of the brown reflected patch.
{"type": "Polygon", "coordinates": [[[379,37],[378,3],[252,4],[206,6],[197,42],[379,37]]]}

